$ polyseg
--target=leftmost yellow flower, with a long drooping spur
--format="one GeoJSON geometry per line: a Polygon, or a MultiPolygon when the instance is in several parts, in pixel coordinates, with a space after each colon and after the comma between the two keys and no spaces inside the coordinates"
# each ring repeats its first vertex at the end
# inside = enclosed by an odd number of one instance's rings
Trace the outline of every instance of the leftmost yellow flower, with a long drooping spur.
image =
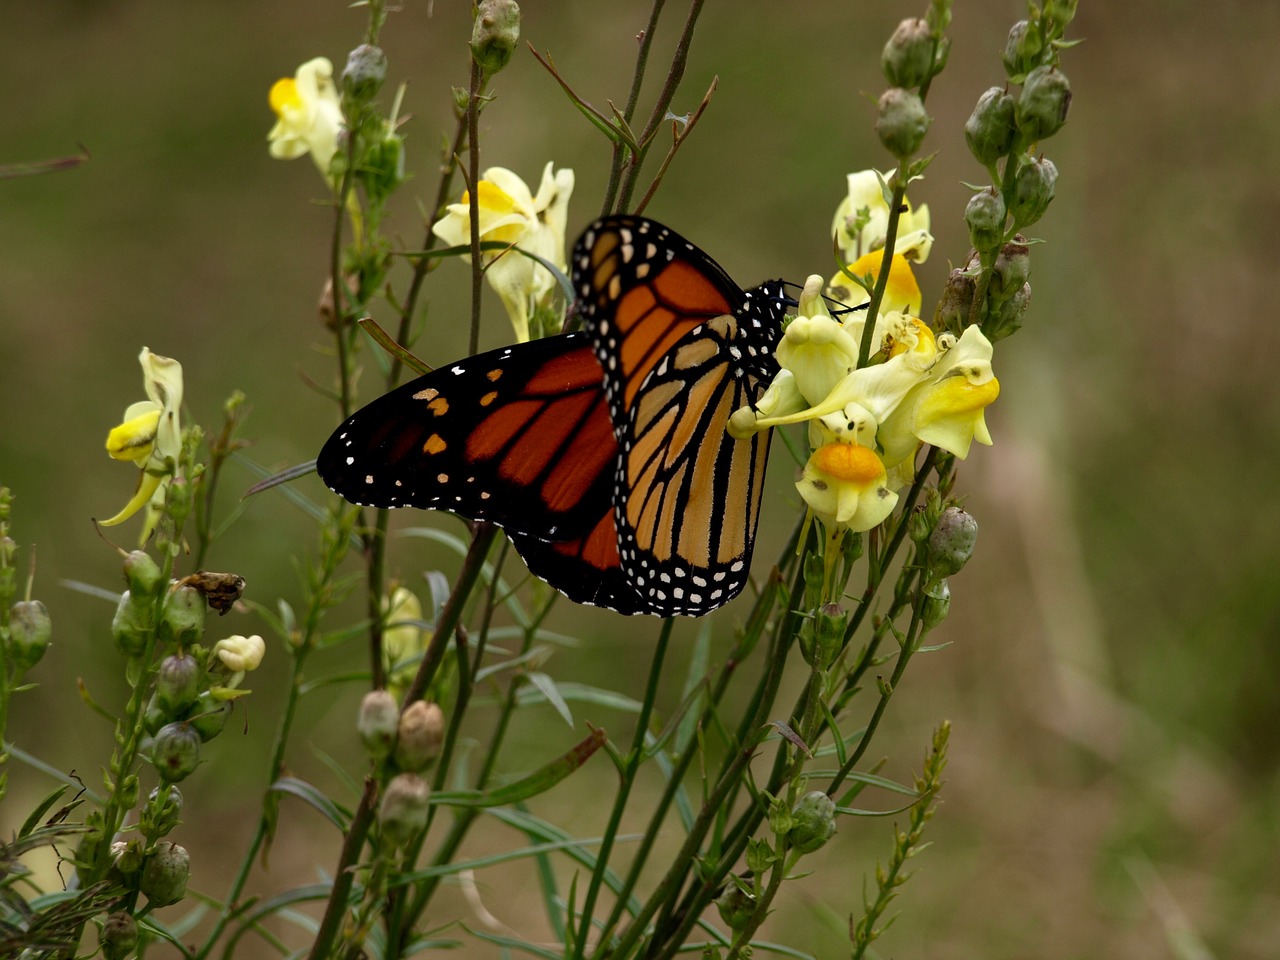
{"type": "Polygon", "coordinates": [[[136,463],[142,474],[124,509],[101,524],[122,524],[148,504],[140,540],[146,543],[160,518],[165,490],[182,453],[182,364],[157,356],[146,347],[138,355],[138,362],[148,399],[138,401],[124,411],[120,425],[106,436],[106,452],[114,460],[136,463]]]}

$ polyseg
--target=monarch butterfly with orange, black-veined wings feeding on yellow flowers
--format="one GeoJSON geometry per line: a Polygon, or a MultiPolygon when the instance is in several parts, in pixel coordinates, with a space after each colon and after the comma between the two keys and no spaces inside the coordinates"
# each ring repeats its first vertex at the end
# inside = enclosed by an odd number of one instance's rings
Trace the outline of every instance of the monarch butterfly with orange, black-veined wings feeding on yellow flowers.
{"type": "Polygon", "coordinates": [[[707,613],[746,584],[769,438],[726,426],[777,372],[790,301],[639,216],[598,220],[571,264],[581,332],[392,390],[334,431],[320,477],[364,506],[495,524],[577,603],[707,613]]]}

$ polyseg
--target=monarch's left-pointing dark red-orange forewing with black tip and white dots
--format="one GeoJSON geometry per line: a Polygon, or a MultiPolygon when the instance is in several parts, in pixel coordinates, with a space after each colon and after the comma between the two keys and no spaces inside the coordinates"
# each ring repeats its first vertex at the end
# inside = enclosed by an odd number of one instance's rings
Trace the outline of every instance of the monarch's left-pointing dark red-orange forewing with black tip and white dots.
{"type": "Polygon", "coordinates": [[[351,416],[316,468],[353,503],[582,536],[611,508],[617,443],[585,334],[434,370],[351,416]]]}

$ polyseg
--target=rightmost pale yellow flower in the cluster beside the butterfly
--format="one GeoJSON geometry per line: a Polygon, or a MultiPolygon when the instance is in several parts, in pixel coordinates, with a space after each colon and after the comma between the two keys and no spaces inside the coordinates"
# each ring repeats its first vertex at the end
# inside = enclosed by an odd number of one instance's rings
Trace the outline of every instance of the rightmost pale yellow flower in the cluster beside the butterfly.
{"type": "Polygon", "coordinates": [[[992,443],[984,412],[1000,396],[1000,380],[991,369],[991,340],[977,326],[965,329],[959,340],[947,334],[938,339],[943,351],[938,362],[881,430],[890,466],[911,457],[922,442],[960,460],[974,440],[992,443]]]}

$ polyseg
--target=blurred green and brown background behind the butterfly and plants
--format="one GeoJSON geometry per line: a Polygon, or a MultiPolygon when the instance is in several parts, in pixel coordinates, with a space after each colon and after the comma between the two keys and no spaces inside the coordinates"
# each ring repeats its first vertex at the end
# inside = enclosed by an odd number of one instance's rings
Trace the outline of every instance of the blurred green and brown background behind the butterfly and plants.
{"type": "MultiPolygon", "coordinates": [[[[938,157],[913,195],[929,204],[937,237],[919,270],[927,311],[948,257],[968,246],[961,180],[984,178],[960,129],[978,95],[1004,81],[998,51],[1023,10],[956,3],[951,61],[928,102],[927,148],[938,157]]],[[[719,90],[648,212],[744,284],[831,273],[827,230],[845,174],[888,165],[870,131],[881,46],[899,19],[919,13],[919,3],[708,4],[676,111],[694,109],[713,76],[719,90]]],[[[684,10],[667,15],[650,96],[684,10]]],[[[586,100],[621,104],[646,17],[641,3],[529,3],[524,36],[550,51],[586,100]]],[[[362,10],[339,0],[4,5],[0,164],[67,155],[77,143],[92,154],[68,173],[0,180],[0,483],[17,494],[15,538],[36,545],[36,594],[56,628],[33,676],[40,691],[17,700],[9,736],[95,787],[110,730],[77,701],[74,682],[84,677],[100,700],[119,701],[111,609],[61,581],[119,589],[118,557],[90,518],[120,507],[134,472],[110,462],[102,440],[142,396],[136,357],[146,344],[183,362],[188,410],[206,428],[238,388],[253,408],[250,456],[273,468],[315,456],[335,422],[305,383],[332,380],[315,308],[332,214],[310,160],[269,159],[266,92],[315,55],[340,69],[362,29],[362,10]]],[[[468,3],[406,0],[383,35],[385,99],[411,81],[404,129],[416,179],[394,225],[406,247],[421,242],[413,201],[435,193],[468,32],[468,3]]],[[[915,861],[896,902],[902,918],[879,948],[936,960],[1274,957],[1280,390],[1267,365],[1280,356],[1280,6],[1084,0],[1069,36],[1087,42],[1064,55],[1075,101],[1046,143],[1061,179],[1034,228],[1048,242],[1034,248],[1032,311],[1024,332],[997,347],[996,445],[977,448],[960,475],[982,539],[952,581],[941,639],[955,643],[916,662],[872,750],[905,780],[934,723],[955,727],[934,845],[915,861]]],[[[547,160],[572,166],[575,236],[599,211],[604,140],[527,51],[495,92],[481,120],[483,165],[534,183],[547,160]]],[[[438,271],[426,300],[430,334],[419,351],[448,361],[465,352],[462,268],[438,271]]],[[[485,343],[495,346],[509,329],[495,298],[486,317],[485,343]]],[[[224,516],[252,481],[230,467],[224,516]]],[[[771,483],[758,575],[794,517],[781,445],[771,483]]],[[[297,488],[323,499],[315,477],[297,488]]],[[[461,531],[449,518],[407,520],[461,531]]],[[[134,521],[111,532],[129,544],[136,531],[134,521]]],[[[248,503],[209,566],[242,573],[260,603],[297,603],[294,558],[314,544],[311,521],[268,494],[248,503]]],[[[392,559],[413,582],[453,563],[421,541],[399,543],[392,559]]],[[[714,618],[722,640],[736,611],[714,618]]],[[[238,613],[211,626],[265,632],[238,613]]],[[[620,623],[566,603],[554,626],[582,640],[556,655],[558,678],[639,695],[654,622],[620,623]]],[[[678,652],[696,630],[681,625],[678,652]]],[[[218,740],[184,785],[188,826],[177,838],[192,847],[193,887],[215,896],[264,782],[284,664],[271,643],[247,726],[218,740]]],[[[358,652],[340,650],[312,672],[358,662],[358,652]]],[[[672,672],[667,707],[682,681],[678,664],[672,672]]],[[[315,746],[360,769],[351,732],[360,691],[333,690],[305,704],[289,763],[340,792],[315,746]]],[[[580,712],[575,731],[545,708],[529,717],[504,769],[566,749],[585,735],[584,721],[630,739],[630,718],[598,708],[580,712]]],[[[599,760],[539,809],[596,832],[612,783],[599,760]]],[[[0,829],[12,831],[49,785],[12,765],[0,829]]],[[[332,869],[337,837],[317,820],[285,822],[255,890],[332,869]]],[[[518,844],[498,831],[472,852],[518,844]]],[[[887,820],[842,822],[818,873],[785,890],[768,936],[844,955],[861,872],[890,845],[887,820]]],[[[488,870],[476,882],[502,923],[545,934],[531,869],[488,870]]],[[[456,910],[479,923],[461,893],[448,896],[434,920],[456,910]]],[[[472,942],[461,955],[493,950],[472,942]]]]}

